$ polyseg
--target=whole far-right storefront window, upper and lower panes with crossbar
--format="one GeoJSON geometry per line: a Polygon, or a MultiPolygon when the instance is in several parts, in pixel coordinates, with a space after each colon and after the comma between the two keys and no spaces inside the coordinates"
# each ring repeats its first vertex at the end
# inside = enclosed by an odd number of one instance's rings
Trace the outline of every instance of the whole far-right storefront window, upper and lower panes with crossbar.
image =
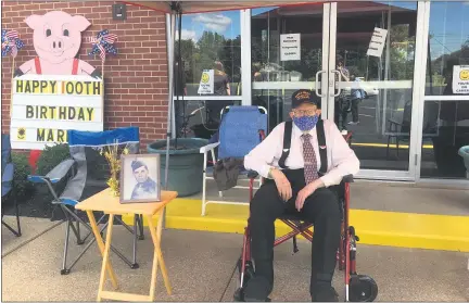
{"type": "Polygon", "coordinates": [[[469,146],[469,3],[431,2],[420,175],[466,179],[469,146]],[[456,78],[455,78],[456,77],[456,78]]]}

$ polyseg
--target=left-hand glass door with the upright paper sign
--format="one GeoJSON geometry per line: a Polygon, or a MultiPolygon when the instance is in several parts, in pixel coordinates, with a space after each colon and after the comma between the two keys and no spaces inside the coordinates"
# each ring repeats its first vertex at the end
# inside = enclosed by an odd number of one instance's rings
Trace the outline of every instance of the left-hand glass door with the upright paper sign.
{"type": "Polygon", "coordinates": [[[310,89],[327,104],[330,4],[251,11],[253,105],[269,113],[269,130],[289,119],[291,96],[310,89]]]}

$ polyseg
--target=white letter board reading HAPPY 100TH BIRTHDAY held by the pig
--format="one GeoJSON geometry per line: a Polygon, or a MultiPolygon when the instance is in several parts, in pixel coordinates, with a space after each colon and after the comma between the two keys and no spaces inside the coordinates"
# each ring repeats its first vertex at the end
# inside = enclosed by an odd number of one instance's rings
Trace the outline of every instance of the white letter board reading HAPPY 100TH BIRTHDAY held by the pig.
{"type": "Polygon", "coordinates": [[[10,138],[13,149],[43,150],[68,142],[67,130],[103,130],[102,79],[84,75],[13,78],[10,138]]]}

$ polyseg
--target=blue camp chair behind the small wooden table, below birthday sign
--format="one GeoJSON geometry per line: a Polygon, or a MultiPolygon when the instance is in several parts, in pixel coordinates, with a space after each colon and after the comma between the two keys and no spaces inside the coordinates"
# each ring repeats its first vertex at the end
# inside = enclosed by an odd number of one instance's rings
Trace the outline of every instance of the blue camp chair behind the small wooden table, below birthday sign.
{"type": "MultiPolygon", "coordinates": [[[[99,150],[111,147],[118,146],[119,148],[126,147],[130,154],[136,154],[139,152],[139,128],[138,127],[124,127],[106,131],[79,131],[79,130],[68,130],[68,147],[72,159],[64,160],[58,166],[55,166],[46,176],[28,176],[28,180],[36,184],[46,184],[53,195],[52,204],[59,206],[62,210],[66,222],[65,231],[65,243],[64,243],[64,254],[62,262],[62,275],[67,275],[72,267],[78,262],[78,260],[85,254],[85,252],[94,243],[96,239],[92,237],[92,229],[89,224],[84,222],[78,216],[78,211],[75,205],[81,200],[84,189],[87,185],[87,178],[90,176],[89,171],[91,166],[96,166],[93,161],[88,161],[87,157],[99,150]],[[56,184],[61,180],[66,180],[65,189],[61,194],[59,194],[54,188],[56,184]],[[74,223],[76,225],[74,225],[74,223]],[[84,238],[80,237],[80,224],[89,230],[88,235],[84,238]],[[75,258],[75,261],[67,267],[67,254],[68,254],[68,238],[69,231],[75,233],[77,244],[84,244],[88,237],[92,237],[87,247],[81,251],[81,253],[75,258]]],[[[104,224],[101,228],[101,232],[107,227],[109,223],[104,223],[106,215],[102,215],[99,224],[104,224]]],[[[134,229],[131,229],[127,224],[125,224],[119,217],[115,217],[130,233],[134,235],[134,258],[132,262],[128,261],[119,251],[117,251],[113,245],[111,249],[115,252],[130,268],[138,268],[136,261],[136,250],[137,250],[137,227],[139,226],[139,239],[143,239],[143,218],[142,216],[136,215],[134,218],[134,229]]]]}

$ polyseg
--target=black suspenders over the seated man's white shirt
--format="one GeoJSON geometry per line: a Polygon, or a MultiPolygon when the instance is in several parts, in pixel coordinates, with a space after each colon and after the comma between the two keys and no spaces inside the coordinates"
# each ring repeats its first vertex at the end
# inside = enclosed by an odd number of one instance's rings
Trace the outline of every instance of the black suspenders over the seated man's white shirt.
{"type": "MultiPolygon", "coordinates": [[[[284,162],[290,154],[292,128],[293,128],[293,122],[288,121],[284,123],[283,150],[279,160],[279,166],[283,169],[288,168],[284,165],[284,162]]],[[[321,119],[318,121],[318,123],[316,124],[316,132],[318,138],[318,146],[319,146],[319,156],[321,161],[321,167],[319,168],[319,174],[325,175],[327,173],[328,162],[327,162],[326,136],[324,130],[324,122],[321,119]]]]}

